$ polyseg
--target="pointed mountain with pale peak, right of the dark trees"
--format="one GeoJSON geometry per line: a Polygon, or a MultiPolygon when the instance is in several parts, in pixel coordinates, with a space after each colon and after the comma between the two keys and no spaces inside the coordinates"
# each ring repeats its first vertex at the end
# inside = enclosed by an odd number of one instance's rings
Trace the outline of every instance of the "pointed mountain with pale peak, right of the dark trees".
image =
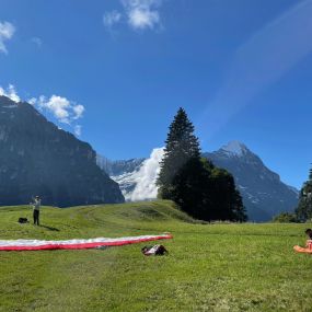
{"type": "Polygon", "coordinates": [[[212,153],[204,153],[219,167],[233,174],[251,221],[267,221],[282,211],[293,211],[298,190],[284,184],[279,175],[241,142],[232,141],[212,153]]]}

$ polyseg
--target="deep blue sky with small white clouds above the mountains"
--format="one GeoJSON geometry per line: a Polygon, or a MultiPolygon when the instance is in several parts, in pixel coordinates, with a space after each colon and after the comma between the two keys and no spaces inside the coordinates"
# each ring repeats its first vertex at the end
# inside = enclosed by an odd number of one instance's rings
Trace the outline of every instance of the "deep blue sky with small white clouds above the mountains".
{"type": "Polygon", "coordinates": [[[307,178],[312,0],[0,3],[0,92],[97,152],[148,157],[183,106],[204,151],[240,140],[288,184],[307,178]]]}

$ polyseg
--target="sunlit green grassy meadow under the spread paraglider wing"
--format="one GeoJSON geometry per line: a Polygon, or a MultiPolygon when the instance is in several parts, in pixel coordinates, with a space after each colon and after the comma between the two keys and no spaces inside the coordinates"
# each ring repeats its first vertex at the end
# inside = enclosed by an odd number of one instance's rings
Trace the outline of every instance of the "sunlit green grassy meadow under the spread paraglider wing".
{"type": "Polygon", "coordinates": [[[312,311],[312,257],[292,252],[307,224],[196,224],[169,201],[43,208],[39,228],[23,216],[1,208],[0,239],[174,240],[167,257],[145,257],[143,244],[0,252],[0,311],[312,311]]]}

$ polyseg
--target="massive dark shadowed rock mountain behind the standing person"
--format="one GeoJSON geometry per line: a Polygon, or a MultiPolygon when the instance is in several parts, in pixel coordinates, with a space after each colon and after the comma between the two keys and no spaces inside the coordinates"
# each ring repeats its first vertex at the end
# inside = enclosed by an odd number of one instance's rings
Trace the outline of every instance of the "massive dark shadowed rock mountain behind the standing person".
{"type": "Polygon", "coordinates": [[[86,142],[59,129],[32,105],[0,96],[0,206],[59,207],[123,203],[116,182],[96,165],[86,142]]]}

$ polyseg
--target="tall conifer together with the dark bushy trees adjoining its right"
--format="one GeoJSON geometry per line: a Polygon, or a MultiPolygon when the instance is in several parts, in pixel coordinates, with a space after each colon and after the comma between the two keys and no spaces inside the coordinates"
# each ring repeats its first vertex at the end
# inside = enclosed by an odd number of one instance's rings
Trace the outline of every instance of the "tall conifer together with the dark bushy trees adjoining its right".
{"type": "Polygon", "coordinates": [[[245,221],[246,215],[232,175],[200,158],[194,126],[180,108],[170,125],[157,181],[159,197],[203,220],[245,221]]]}

